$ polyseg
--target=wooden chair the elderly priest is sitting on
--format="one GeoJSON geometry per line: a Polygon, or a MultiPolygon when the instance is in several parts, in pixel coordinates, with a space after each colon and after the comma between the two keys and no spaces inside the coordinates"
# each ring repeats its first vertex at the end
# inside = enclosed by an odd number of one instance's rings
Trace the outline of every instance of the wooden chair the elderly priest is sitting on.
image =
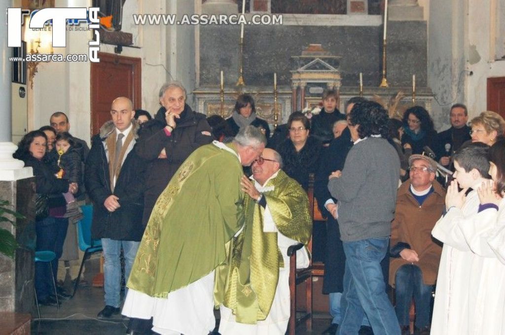
{"type": "MultiPolygon", "coordinates": [[[[309,180],[309,208],[313,220],[324,221],[323,215],[319,211],[317,201],[314,198],[314,175],[311,174],[309,180]]],[[[296,269],[296,250],[302,248],[304,245],[298,243],[288,248],[287,254],[289,256],[289,291],[291,295],[291,315],[289,317],[288,331],[289,335],[294,335],[296,326],[301,322],[306,322],[308,331],[312,330],[312,277],[324,275],[324,263],[312,262],[312,257],[309,267],[305,269],[296,269]],[[296,315],[296,287],[299,284],[305,284],[306,290],[306,309],[305,313],[300,317],[296,315]]],[[[307,246],[309,252],[312,254],[312,237],[307,246]]]]}

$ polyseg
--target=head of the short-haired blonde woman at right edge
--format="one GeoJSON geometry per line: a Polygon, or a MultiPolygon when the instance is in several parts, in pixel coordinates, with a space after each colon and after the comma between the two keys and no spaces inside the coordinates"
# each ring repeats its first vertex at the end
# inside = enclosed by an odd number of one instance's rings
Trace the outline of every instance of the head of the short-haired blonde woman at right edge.
{"type": "Polygon", "coordinates": [[[470,122],[472,130],[472,142],[482,142],[489,146],[503,138],[505,131],[505,120],[494,111],[483,111],[478,117],[470,122]]]}

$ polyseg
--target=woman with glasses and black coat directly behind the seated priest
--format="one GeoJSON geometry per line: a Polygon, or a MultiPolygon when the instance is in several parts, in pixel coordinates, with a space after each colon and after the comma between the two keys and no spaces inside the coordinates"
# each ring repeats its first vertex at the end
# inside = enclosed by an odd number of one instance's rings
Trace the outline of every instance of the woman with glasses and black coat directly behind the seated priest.
{"type": "Polygon", "coordinates": [[[307,191],[309,174],[317,169],[322,145],[319,140],[309,136],[311,124],[300,111],[289,116],[287,128],[289,138],[277,147],[284,162],[282,170],[307,191]]]}

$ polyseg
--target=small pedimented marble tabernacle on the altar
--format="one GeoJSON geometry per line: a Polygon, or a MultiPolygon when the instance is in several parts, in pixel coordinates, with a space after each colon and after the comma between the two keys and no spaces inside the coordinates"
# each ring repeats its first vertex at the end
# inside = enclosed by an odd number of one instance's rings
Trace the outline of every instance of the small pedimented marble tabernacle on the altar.
{"type": "Polygon", "coordinates": [[[340,56],[324,50],[321,44],[310,44],[301,55],[291,59],[296,68],[291,71],[291,103],[294,110],[321,101],[325,89],[340,91],[340,56]]]}

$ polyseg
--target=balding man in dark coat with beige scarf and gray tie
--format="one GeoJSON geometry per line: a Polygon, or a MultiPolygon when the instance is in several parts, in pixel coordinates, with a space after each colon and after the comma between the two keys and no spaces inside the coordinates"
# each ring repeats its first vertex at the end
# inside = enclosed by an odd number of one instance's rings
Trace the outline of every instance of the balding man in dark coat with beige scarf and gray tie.
{"type": "Polygon", "coordinates": [[[105,308],[98,318],[119,314],[123,248],[128,278],[142,238],[143,184],[145,164],[135,154],[137,123],[130,99],[118,97],[107,121],[91,139],[85,166],[85,184],[93,201],[93,239],[104,248],[105,308]]]}

